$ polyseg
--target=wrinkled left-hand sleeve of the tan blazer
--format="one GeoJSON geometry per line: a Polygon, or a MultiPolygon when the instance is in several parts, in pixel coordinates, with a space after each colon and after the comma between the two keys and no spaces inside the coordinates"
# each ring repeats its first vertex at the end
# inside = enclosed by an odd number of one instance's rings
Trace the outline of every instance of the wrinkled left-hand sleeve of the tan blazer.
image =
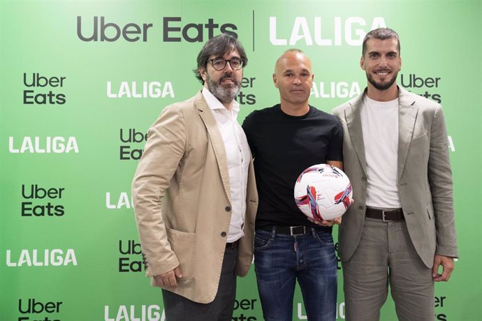
{"type": "Polygon", "coordinates": [[[161,201],[186,149],[186,125],[182,108],[166,107],[149,128],[143,156],[132,182],[133,207],[147,276],[177,267],[168,242],[161,201]]]}

